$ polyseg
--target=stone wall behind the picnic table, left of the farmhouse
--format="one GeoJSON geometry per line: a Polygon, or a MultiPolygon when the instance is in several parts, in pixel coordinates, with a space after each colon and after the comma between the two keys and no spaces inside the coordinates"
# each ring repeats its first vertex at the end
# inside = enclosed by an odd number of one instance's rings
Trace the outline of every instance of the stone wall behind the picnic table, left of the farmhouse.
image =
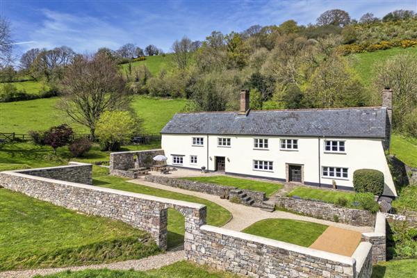
{"type": "Polygon", "coordinates": [[[163,149],[149,149],[146,151],[112,152],[110,154],[110,172],[113,170],[128,170],[136,167],[151,167],[154,158],[164,154],[163,149]]]}

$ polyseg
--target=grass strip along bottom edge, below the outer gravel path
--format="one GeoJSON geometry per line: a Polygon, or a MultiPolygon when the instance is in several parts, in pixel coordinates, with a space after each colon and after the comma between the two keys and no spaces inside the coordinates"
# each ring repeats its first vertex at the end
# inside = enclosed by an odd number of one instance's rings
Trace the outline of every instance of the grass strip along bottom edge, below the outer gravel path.
{"type": "MultiPolygon", "coordinates": [[[[39,278],[41,276],[35,276],[39,278]]],[[[237,278],[231,272],[213,270],[206,265],[197,265],[190,261],[179,261],[147,272],[134,270],[83,270],[78,272],[60,272],[45,278],[237,278]]]]}

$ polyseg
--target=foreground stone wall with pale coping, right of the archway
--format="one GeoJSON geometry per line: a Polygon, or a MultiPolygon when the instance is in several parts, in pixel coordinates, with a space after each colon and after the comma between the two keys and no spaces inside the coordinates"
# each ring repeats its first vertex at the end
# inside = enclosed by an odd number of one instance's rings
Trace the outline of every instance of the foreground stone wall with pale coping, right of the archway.
{"type": "Polygon", "coordinates": [[[308,247],[203,225],[184,245],[187,259],[250,277],[370,277],[370,243],[361,243],[356,259],[308,247]]]}

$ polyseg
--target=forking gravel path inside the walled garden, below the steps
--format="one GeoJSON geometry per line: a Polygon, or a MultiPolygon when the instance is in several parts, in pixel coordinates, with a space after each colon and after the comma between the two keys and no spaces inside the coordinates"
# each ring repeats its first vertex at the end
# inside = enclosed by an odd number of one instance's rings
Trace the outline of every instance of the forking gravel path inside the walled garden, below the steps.
{"type": "Polygon", "coordinates": [[[321,220],[317,218],[311,218],[307,216],[288,213],[285,211],[274,211],[270,213],[268,211],[262,211],[261,208],[255,208],[252,206],[244,206],[243,204],[235,204],[235,203],[229,202],[229,200],[227,199],[220,199],[220,197],[215,196],[215,195],[209,195],[206,193],[200,193],[197,191],[190,191],[190,190],[185,190],[181,188],[174,188],[171,186],[164,186],[159,183],[151,183],[151,182],[145,181],[143,178],[132,179],[129,182],[136,183],[138,184],[138,186],[142,184],[144,186],[149,186],[153,188],[159,188],[159,189],[173,191],[173,192],[182,193],[186,195],[192,195],[195,197],[208,199],[208,201],[211,201],[215,204],[219,204],[220,206],[230,211],[231,215],[233,215],[233,218],[229,222],[227,222],[227,224],[225,224],[223,228],[231,229],[234,231],[242,231],[246,227],[249,227],[250,225],[254,224],[254,222],[258,222],[259,220],[268,219],[268,218],[286,218],[286,219],[293,219],[293,220],[303,220],[303,221],[308,221],[308,222],[325,224],[327,226],[348,229],[352,231],[359,231],[361,233],[373,231],[373,227],[356,227],[356,226],[352,226],[348,224],[336,223],[332,221],[321,220]]]}

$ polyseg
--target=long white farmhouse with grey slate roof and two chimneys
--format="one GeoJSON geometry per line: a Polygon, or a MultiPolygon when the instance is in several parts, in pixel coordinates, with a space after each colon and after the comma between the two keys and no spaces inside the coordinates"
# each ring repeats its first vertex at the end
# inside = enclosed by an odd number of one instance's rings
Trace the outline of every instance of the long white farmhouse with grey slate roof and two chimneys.
{"type": "Polygon", "coordinates": [[[248,177],[353,189],[353,172],[384,173],[384,195],[396,196],[389,148],[392,91],[382,107],[178,113],[162,133],[167,164],[248,177]]]}

